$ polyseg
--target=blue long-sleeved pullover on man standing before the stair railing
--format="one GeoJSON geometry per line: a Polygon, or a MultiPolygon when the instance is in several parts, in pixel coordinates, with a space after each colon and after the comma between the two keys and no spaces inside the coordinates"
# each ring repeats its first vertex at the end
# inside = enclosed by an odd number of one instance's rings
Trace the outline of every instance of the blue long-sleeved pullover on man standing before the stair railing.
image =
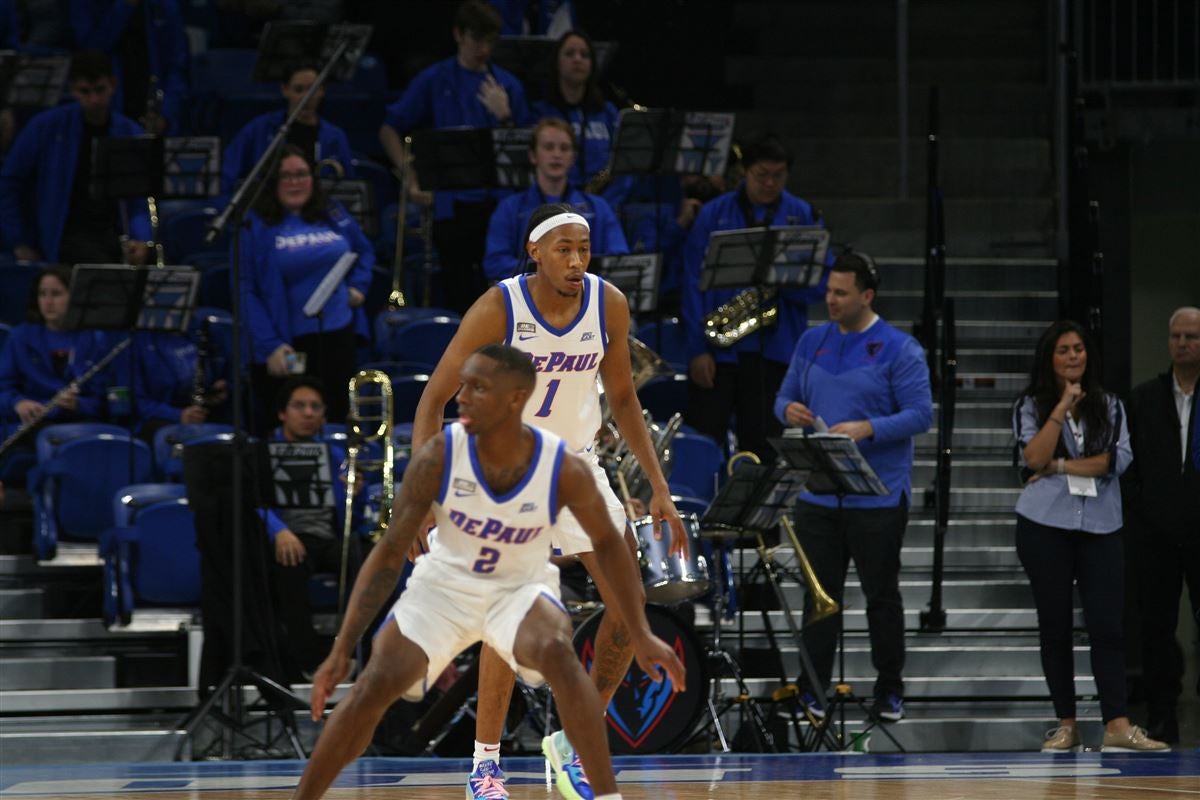
{"type": "MultiPolygon", "coordinates": [[[[842,333],[836,323],[809,329],[797,343],[775,396],[775,416],[784,425],[784,409],[791,402],[808,405],[829,427],[866,420],[875,428],[875,435],[859,441],[858,449],[890,493],[850,495],[844,507],[895,507],[901,495],[907,503],[912,497],[912,439],[934,421],[929,367],[917,339],[882,318],[854,333],[842,333]]],[[[800,499],[838,507],[833,495],[805,492],[800,499]]]]}

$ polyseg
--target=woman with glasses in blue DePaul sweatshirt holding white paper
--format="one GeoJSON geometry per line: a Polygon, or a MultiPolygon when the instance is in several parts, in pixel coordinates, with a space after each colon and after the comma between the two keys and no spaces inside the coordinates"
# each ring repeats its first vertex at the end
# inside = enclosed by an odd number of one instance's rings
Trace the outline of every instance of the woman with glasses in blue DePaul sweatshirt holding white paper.
{"type": "Polygon", "coordinates": [[[275,427],[275,395],[284,378],[301,372],[330,387],[328,417],[346,419],[348,392],[338,389],[358,369],[373,265],[374,248],[358,223],[326,198],[304,154],[286,145],[241,236],[241,313],[250,330],[256,433],[275,427]],[[318,314],[305,314],[313,291],[348,253],[356,257],[349,271],[318,314]]]}

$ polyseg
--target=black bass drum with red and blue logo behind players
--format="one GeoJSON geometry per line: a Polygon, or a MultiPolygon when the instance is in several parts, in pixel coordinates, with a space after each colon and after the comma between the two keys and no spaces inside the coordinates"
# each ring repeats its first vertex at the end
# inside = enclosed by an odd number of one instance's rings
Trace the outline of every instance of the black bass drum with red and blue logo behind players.
{"type": "MultiPolygon", "coordinates": [[[[604,609],[589,616],[575,631],[575,651],[583,667],[592,670],[595,636],[604,609]]],[[[696,728],[708,699],[708,669],[704,650],[696,634],[678,616],[661,606],[647,606],[650,631],[666,642],[688,670],[685,692],[672,691],[671,679],[655,684],[635,661],[608,705],[608,746],[614,756],[673,752],[696,728]]]]}

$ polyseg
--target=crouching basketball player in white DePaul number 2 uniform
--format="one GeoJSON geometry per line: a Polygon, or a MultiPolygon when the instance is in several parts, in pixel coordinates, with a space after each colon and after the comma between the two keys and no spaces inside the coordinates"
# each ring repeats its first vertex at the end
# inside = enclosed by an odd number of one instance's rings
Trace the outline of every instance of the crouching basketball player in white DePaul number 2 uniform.
{"type": "MultiPolygon", "coordinates": [[[[637,600],[637,565],[620,541],[590,469],[562,439],[527,426],[534,389],[528,356],[491,344],[463,365],[460,421],[422,445],[401,483],[388,533],[354,582],[346,619],[312,687],[312,717],[350,669],[350,655],[400,579],[431,506],[437,541],[421,558],[376,638],[371,660],[338,703],[293,798],[319,798],[371,741],[383,712],[428,681],[463,648],[487,643],[522,678],[550,681],[554,702],[587,764],[595,796],[619,799],[600,697],[571,645],[571,624],[550,564],[550,531],[570,510],[608,576],[604,600],[632,634],[637,662],[683,686],[683,664],[650,633],[637,600]],[[607,590],[611,588],[611,590],[607,590]]],[[[476,790],[494,794],[492,776],[476,790]]]]}

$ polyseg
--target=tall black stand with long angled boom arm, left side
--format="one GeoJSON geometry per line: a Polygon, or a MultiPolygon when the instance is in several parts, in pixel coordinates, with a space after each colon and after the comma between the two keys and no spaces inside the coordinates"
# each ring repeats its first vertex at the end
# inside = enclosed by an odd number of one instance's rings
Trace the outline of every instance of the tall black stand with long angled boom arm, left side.
{"type": "MultiPolygon", "coordinates": [[[[365,32],[370,35],[370,28],[367,26],[350,26],[353,29],[365,29],[365,32]]],[[[324,47],[330,48],[330,55],[325,61],[320,72],[317,73],[317,79],[313,80],[308,91],[305,96],[300,98],[296,103],[295,109],[288,114],[287,120],[276,131],[275,137],[271,139],[270,144],[259,156],[258,161],[251,168],[250,174],[246,180],[242,181],[238,191],[234,192],[233,198],[229,204],[217,215],[217,218],[212,221],[206,235],[206,241],[214,241],[221,231],[226,229],[230,219],[234,221],[233,225],[233,258],[230,259],[230,276],[229,279],[234,287],[239,285],[241,276],[241,258],[240,258],[240,246],[239,241],[241,237],[241,229],[245,225],[246,213],[253,206],[256,199],[262,193],[265,187],[265,181],[263,176],[266,174],[268,167],[277,160],[280,145],[287,139],[288,130],[292,124],[299,116],[300,110],[307,104],[308,100],[318,91],[324,83],[329,79],[330,74],[338,71],[343,73],[353,71],[356,66],[354,60],[354,53],[361,53],[361,48],[365,47],[365,38],[362,38],[364,30],[347,30],[343,26],[334,25],[326,29],[326,38],[324,47]]],[[[265,37],[264,37],[265,38],[265,37]]],[[[293,53],[286,50],[284,46],[276,46],[277,49],[274,52],[265,52],[265,47],[259,48],[259,59],[265,61],[277,61],[287,62],[289,58],[294,58],[293,53]]],[[[325,52],[323,49],[323,52],[325,52]]],[[[311,52],[308,52],[311,53],[311,52]]],[[[308,56],[305,53],[305,58],[308,56]]],[[[282,68],[282,64],[280,64],[282,68]]],[[[265,67],[264,67],[265,68],[265,67]]],[[[256,68],[256,72],[258,70],[256,68]]],[[[244,559],[244,517],[245,517],[245,487],[242,480],[244,462],[239,457],[240,450],[246,445],[245,425],[244,425],[244,413],[242,408],[242,384],[241,384],[241,331],[242,331],[242,319],[241,319],[241,293],[234,291],[232,295],[233,301],[233,353],[232,353],[232,365],[230,373],[233,375],[233,426],[235,431],[235,441],[238,446],[229,449],[229,461],[232,462],[232,469],[228,471],[226,477],[228,477],[232,485],[229,494],[229,505],[233,509],[233,521],[232,521],[232,542],[233,542],[233,608],[234,608],[234,637],[232,648],[232,663],[228,666],[224,678],[217,686],[216,691],[208,698],[203,704],[200,704],[190,717],[188,736],[180,742],[179,748],[175,752],[176,758],[182,756],[184,746],[192,739],[194,729],[205,718],[211,717],[215,722],[223,726],[230,734],[241,733],[246,727],[245,720],[245,706],[242,703],[242,688],[247,685],[254,685],[263,692],[263,681],[269,679],[263,678],[250,669],[242,660],[242,637],[241,637],[241,614],[239,610],[242,608],[242,559],[244,559]],[[222,708],[223,706],[223,708],[222,708]],[[226,712],[226,710],[229,712],[226,712]]],[[[186,464],[185,464],[186,468],[186,464]]],[[[272,690],[274,691],[274,690],[272,690]]],[[[275,696],[284,703],[290,703],[294,698],[290,693],[284,691],[286,697],[275,696]]],[[[301,705],[305,705],[300,702],[301,705]]],[[[293,742],[295,748],[296,742],[293,742]]],[[[229,748],[226,748],[226,754],[229,754],[229,748]]]]}

